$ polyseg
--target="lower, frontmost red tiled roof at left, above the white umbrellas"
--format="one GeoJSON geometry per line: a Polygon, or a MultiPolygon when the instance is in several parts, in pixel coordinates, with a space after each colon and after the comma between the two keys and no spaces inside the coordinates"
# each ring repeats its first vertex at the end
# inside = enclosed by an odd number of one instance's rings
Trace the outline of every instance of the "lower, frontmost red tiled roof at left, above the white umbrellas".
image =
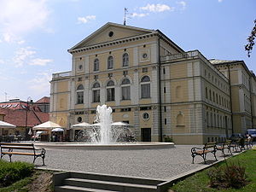
{"type": "Polygon", "coordinates": [[[42,124],[49,120],[49,113],[27,111],[26,123],[26,110],[11,110],[7,108],[0,108],[0,113],[5,113],[4,121],[16,125],[33,127],[42,124]]]}

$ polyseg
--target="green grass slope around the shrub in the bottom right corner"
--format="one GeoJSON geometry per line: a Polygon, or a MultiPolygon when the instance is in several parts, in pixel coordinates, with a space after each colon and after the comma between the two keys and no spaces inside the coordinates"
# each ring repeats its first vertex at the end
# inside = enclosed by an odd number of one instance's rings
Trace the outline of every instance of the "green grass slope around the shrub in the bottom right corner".
{"type": "MultiPolygon", "coordinates": [[[[238,164],[246,168],[247,175],[247,185],[241,189],[212,189],[209,187],[209,177],[207,172],[209,169],[214,169],[211,167],[202,172],[195,173],[195,175],[184,179],[181,182],[176,183],[170,189],[175,192],[254,192],[256,189],[256,151],[247,150],[242,154],[238,154],[227,160],[227,163],[238,164]]],[[[219,166],[226,166],[224,162],[221,162],[219,166]]]]}

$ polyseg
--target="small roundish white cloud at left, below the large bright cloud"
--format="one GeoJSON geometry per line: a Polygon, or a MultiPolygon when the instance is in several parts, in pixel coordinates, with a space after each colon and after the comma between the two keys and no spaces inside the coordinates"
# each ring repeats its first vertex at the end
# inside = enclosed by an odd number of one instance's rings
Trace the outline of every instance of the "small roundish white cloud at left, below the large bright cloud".
{"type": "Polygon", "coordinates": [[[36,51],[31,47],[20,48],[15,52],[15,67],[22,67],[26,61],[28,61],[32,55],[35,55],[36,51]]]}

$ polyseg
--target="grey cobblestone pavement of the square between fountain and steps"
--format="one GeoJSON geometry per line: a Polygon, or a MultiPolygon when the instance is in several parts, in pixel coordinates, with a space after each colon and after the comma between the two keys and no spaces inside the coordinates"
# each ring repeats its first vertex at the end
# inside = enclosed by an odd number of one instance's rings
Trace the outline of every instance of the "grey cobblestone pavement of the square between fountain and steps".
{"type": "MultiPolygon", "coordinates": [[[[65,171],[96,172],[131,177],[151,177],[166,179],[193,169],[204,167],[200,156],[191,164],[191,145],[176,145],[175,148],[139,150],[81,150],[46,149],[45,165],[38,158],[35,165],[65,171]]],[[[217,159],[223,157],[217,152],[217,159]]],[[[8,156],[3,159],[9,160],[8,156]]],[[[12,160],[32,162],[33,157],[14,155],[12,160]]],[[[214,160],[207,154],[207,160],[214,160]]]]}

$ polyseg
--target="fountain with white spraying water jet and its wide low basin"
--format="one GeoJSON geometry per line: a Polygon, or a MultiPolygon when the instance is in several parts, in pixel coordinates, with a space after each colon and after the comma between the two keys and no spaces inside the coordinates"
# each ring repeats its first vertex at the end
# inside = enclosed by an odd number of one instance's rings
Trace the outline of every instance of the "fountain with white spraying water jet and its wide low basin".
{"type": "Polygon", "coordinates": [[[97,106],[96,124],[83,124],[76,137],[78,143],[37,143],[44,148],[81,148],[86,150],[124,150],[172,148],[174,143],[137,143],[131,125],[112,121],[112,108],[97,106]]]}

